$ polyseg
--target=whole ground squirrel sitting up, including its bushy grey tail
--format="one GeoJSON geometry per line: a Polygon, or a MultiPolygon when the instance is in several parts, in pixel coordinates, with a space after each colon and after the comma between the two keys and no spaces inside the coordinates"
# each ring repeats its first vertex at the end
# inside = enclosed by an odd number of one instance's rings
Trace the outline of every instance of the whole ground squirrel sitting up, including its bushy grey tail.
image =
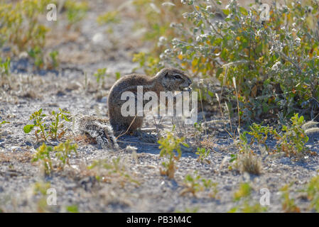
{"type": "Polygon", "coordinates": [[[137,87],[143,86],[143,93],[155,92],[159,97],[160,92],[189,89],[191,83],[192,81],[183,71],[174,68],[164,68],[154,77],[143,74],[129,74],[121,77],[109,92],[109,119],[82,116],[78,121],[80,133],[94,138],[102,148],[118,149],[119,145],[114,133],[117,135],[122,135],[126,131],[135,133],[137,128],[141,128],[144,118],[144,116],[122,116],[121,106],[126,102],[121,100],[123,92],[132,92],[136,97],[137,87]]]}

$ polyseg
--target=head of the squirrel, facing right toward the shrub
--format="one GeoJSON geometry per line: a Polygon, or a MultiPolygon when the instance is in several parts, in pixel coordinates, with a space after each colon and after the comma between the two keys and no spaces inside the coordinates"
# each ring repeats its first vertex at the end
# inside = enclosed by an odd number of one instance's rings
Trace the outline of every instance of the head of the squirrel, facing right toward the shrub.
{"type": "Polygon", "coordinates": [[[184,91],[185,89],[190,91],[190,84],[192,80],[185,72],[175,68],[163,68],[156,74],[161,80],[161,84],[166,89],[166,92],[184,91]]]}

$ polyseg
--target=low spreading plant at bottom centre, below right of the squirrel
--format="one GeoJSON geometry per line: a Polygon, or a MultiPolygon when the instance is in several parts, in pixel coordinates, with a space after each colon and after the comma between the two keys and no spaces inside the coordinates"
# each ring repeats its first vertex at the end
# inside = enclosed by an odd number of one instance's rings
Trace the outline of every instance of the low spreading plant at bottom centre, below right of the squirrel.
{"type": "Polygon", "coordinates": [[[188,192],[192,193],[193,196],[196,196],[198,192],[202,192],[204,190],[211,191],[210,197],[216,198],[217,195],[217,183],[212,182],[210,179],[204,179],[200,175],[195,172],[195,176],[186,175],[184,179],[185,188],[180,192],[181,195],[186,194],[188,192]]]}

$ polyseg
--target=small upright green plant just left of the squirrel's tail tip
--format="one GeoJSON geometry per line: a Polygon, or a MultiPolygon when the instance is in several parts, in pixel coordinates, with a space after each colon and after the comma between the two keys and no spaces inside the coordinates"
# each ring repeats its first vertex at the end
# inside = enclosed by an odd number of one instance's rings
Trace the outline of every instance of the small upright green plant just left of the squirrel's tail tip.
{"type": "Polygon", "coordinates": [[[60,108],[59,111],[60,112],[58,113],[56,113],[55,111],[52,111],[51,113],[51,115],[54,117],[54,120],[50,125],[50,131],[48,132],[48,134],[53,140],[60,139],[65,134],[64,125],[61,121],[70,121],[69,116],[67,116],[67,114],[70,114],[69,111],[65,111],[64,109],[60,108]],[[61,131],[60,133],[58,133],[59,129],[61,131]]]}

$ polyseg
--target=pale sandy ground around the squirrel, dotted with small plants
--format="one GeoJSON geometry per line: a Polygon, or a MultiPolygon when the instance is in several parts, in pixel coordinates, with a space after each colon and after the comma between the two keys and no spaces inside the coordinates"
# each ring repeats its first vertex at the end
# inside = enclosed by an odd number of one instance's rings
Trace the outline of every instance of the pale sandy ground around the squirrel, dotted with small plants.
{"type": "MultiPolygon", "coordinates": [[[[13,86],[0,89],[0,121],[10,122],[1,126],[0,134],[0,211],[69,211],[70,207],[77,207],[80,212],[226,212],[240,204],[234,201],[234,192],[242,182],[252,186],[250,204],[259,204],[260,189],[269,189],[270,205],[266,206],[269,212],[283,211],[279,189],[292,183],[290,196],[297,206],[304,212],[314,211],[309,209],[310,201],[300,190],[318,174],[317,155],[296,161],[282,155],[259,154],[259,176],[229,170],[228,159],[238,150],[224,129],[229,126],[222,123],[213,123],[207,130],[206,140],[212,151],[205,163],[198,162],[195,155],[195,129],[190,126],[185,129],[193,146],[183,149],[181,159],[176,162],[174,179],[160,174],[164,159],[159,157],[158,144],[131,135],[120,138],[121,150],[102,149],[78,140],[78,154],[70,157],[70,166],[44,176],[43,168],[31,163],[41,143],[36,142],[33,133],[23,133],[23,126],[30,123],[29,116],[40,108],[45,114],[58,108],[67,109],[73,121],[65,124],[69,128],[66,138],[79,138],[76,120],[88,115],[107,117],[107,94],[115,82],[115,72],[122,75],[132,72],[137,66],[131,62],[132,54],[148,48],[139,41],[139,31],[132,30],[134,21],[129,16],[114,26],[112,35],[105,32],[107,26],[97,24],[97,15],[113,9],[114,2],[94,1],[90,6],[78,31],[65,33],[63,23],[58,23],[49,34],[48,48],[57,48],[60,53],[57,71],[34,71],[31,62],[23,57],[12,60],[13,86]],[[112,76],[100,87],[92,74],[104,67],[112,76]],[[134,148],[126,148],[127,145],[134,148]],[[100,180],[96,175],[102,170],[87,169],[94,160],[112,161],[118,157],[120,171],[100,180]],[[212,196],[212,190],[204,190],[195,196],[182,195],[185,175],[194,172],[217,183],[217,194],[212,196]],[[56,205],[43,206],[48,194],[34,192],[37,182],[50,182],[57,193],[56,205]]],[[[217,114],[204,114],[207,121],[220,119],[217,114]]],[[[201,116],[199,113],[199,121],[201,116]]],[[[153,119],[147,118],[144,128],[153,126],[153,119]]],[[[161,131],[171,127],[171,119],[164,119],[161,131]]],[[[318,152],[318,140],[311,140],[308,147],[318,152]]]]}

